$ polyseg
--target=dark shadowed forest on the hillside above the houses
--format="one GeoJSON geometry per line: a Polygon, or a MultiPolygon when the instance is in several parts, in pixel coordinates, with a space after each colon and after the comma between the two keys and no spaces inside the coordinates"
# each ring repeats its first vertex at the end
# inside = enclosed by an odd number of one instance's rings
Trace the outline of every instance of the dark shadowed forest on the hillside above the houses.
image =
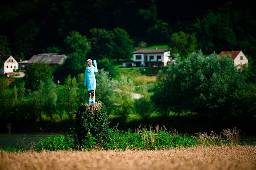
{"type": "MultiPolygon", "coordinates": [[[[134,47],[140,42],[149,46],[168,44],[174,52],[184,55],[195,49],[201,49],[204,54],[242,50],[249,59],[254,59],[254,3],[248,0],[3,0],[0,50],[17,60],[49,51],[67,54],[70,51],[65,39],[71,31],[77,31],[91,42],[88,57],[97,58],[102,56],[99,51],[104,53],[97,43],[109,38],[100,37],[103,31],[120,28],[127,32],[134,47]]],[[[110,42],[103,44],[118,48],[110,42]]],[[[103,56],[109,58],[112,54],[103,56]]]]}

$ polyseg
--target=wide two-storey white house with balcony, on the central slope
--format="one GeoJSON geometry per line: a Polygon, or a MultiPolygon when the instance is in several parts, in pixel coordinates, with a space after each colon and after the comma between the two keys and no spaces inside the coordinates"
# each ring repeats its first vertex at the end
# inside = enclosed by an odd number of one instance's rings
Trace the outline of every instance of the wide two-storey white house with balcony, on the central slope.
{"type": "Polygon", "coordinates": [[[170,52],[163,49],[139,49],[133,54],[133,62],[123,63],[123,67],[158,67],[167,66],[170,61],[170,52]]]}

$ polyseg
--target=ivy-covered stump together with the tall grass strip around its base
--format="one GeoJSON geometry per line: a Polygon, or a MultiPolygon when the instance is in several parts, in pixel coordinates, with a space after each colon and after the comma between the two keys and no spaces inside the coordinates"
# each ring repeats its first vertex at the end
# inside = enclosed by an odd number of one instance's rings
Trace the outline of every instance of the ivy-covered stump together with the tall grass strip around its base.
{"type": "Polygon", "coordinates": [[[59,151],[59,150],[162,150],[191,146],[232,146],[240,145],[240,130],[224,129],[220,134],[199,132],[194,136],[168,131],[165,126],[139,126],[120,131],[118,125],[108,128],[108,115],[104,103],[81,103],[76,111],[76,127],[71,134],[53,134],[38,142],[28,142],[25,138],[8,151],[59,151]]]}

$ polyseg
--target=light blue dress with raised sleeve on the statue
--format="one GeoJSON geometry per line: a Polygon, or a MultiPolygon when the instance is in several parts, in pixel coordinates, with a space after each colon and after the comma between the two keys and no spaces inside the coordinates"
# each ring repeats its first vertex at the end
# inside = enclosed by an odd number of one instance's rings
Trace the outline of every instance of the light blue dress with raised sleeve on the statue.
{"type": "Polygon", "coordinates": [[[87,90],[95,90],[96,89],[96,79],[95,74],[98,72],[97,63],[93,60],[93,65],[91,67],[87,67],[85,69],[85,83],[84,85],[87,86],[87,90]],[[95,66],[95,67],[94,67],[95,66]]]}

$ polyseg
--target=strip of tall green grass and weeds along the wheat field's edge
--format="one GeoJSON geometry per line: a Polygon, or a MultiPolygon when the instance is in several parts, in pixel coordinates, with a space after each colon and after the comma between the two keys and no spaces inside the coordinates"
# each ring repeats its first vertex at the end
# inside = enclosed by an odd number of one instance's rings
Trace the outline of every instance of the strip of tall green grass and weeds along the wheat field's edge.
{"type": "MultiPolygon", "coordinates": [[[[176,129],[169,131],[165,126],[159,128],[159,125],[149,127],[138,126],[135,132],[131,129],[120,131],[117,126],[109,129],[110,141],[104,144],[98,144],[92,134],[84,142],[84,145],[78,147],[77,139],[73,135],[61,135],[43,138],[38,142],[29,142],[26,138],[17,141],[16,147],[6,148],[12,151],[34,150],[37,152],[59,151],[59,150],[169,150],[174,148],[192,147],[192,146],[234,146],[241,145],[240,130],[236,128],[223,129],[220,134],[215,132],[196,133],[195,136],[189,134],[179,134],[176,129]]],[[[4,150],[0,148],[0,150],[4,150]]]]}

